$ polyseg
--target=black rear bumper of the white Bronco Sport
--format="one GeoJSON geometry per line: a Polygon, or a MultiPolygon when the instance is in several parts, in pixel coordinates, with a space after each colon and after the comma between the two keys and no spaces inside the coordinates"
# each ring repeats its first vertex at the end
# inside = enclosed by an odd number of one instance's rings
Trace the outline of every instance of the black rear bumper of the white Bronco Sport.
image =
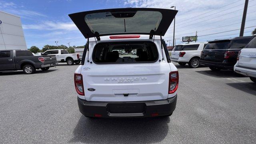
{"type": "Polygon", "coordinates": [[[166,100],[152,100],[139,102],[94,102],[80,98],[78,107],[84,116],[103,118],[143,118],[165,116],[171,114],[176,108],[177,95],[166,100]]]}

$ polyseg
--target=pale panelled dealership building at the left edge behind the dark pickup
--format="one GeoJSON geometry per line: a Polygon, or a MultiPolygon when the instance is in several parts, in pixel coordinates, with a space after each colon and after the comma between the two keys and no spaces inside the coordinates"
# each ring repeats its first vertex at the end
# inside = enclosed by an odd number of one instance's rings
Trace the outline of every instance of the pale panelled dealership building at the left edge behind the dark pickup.
{"type": "Polygon", "coordinates": [[[27,49],[20,17],[0,11],[0,50],[27,49]]]}

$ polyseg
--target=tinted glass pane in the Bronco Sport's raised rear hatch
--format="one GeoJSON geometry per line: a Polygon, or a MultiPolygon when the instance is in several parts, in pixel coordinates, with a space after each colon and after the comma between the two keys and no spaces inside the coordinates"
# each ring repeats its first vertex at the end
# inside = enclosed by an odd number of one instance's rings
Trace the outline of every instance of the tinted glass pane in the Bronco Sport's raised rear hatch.
{"type": "Polygon", "coordinates": [[[99,12],[86,14],[84,20],[93,33],[148,33],[158,29],[162,14],[157,11],[99,12]]]}

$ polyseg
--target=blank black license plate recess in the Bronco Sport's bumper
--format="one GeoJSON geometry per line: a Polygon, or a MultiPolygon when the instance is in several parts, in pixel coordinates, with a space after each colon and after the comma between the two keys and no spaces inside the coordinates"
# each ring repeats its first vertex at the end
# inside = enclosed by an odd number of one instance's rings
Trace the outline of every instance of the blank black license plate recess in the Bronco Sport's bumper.
{"type": "Polygon", "coordinates": [[[144,113],[145,103],[110,103],[107,110],[111,114],[134,114],[144,113]]]}

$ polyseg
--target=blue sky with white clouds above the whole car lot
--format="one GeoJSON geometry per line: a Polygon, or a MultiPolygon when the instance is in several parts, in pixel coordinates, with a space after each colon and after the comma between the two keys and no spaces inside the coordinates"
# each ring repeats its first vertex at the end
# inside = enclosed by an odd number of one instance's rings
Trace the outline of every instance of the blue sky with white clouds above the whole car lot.
{"type": "MultiPolygon", "coordinates": [[[[0,0],[0,11],[21,17],[28,48],[46,45],[80,46],[85,38],[68,14],[106,8],[170,8],[176,6],[175,38],[193,36],[198,41],[230,38],[239,35],[245,0],[0,0]],[[230,32],[225,32],[230,31],[230,32]],[[221,32],[221,33],[219,33],[221,32]],[[219,34],[215,34],[219,33],[219,34]],[[209,35],[210,34],[210,35],[209,35]],[[205,36],[207,35],[207,36],[205,36]]],[[[256,28],[256,0],[249,0],[244,36],[256,28]]],[[[173,24],[164,39],[172,40],[173,24]]],[[[172,43],[172,42],[171,42],[172,43]]]]}

